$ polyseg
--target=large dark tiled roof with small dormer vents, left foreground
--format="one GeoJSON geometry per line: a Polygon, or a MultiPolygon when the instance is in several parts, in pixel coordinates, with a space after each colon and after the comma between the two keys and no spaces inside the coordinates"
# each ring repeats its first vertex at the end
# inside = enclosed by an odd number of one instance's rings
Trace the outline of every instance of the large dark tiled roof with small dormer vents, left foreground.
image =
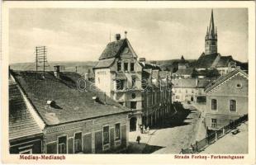
{"type": "MultiPolygon", "coordinates": [[[[81,76],[78,73],[61,73],[60,78],[55,78],[51,72],[46,72],[45,78],[41,72],[14,71],[12,74],[46,125],[130,111],[92,86],[91,82],[86,81],[87,92],[79,91],[76,82],[81,76]],[[99,99],[94,101],[92,97],[99,99]],[[55,106],[47,106],[47,101],[55,101],[55,106]]],[[[84,82],[80,84],[84,87],[84,82]]]]}

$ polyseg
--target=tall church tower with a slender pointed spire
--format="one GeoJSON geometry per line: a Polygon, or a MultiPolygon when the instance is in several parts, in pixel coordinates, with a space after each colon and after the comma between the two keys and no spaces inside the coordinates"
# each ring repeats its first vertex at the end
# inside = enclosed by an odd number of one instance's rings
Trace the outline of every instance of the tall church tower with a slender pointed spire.
{"type": "Polygon", "coordinates": [[[214,26],[213,11],[211,10],[210,27],[206,31],[205,54],[217,53],[217,27],[214,26]]]}

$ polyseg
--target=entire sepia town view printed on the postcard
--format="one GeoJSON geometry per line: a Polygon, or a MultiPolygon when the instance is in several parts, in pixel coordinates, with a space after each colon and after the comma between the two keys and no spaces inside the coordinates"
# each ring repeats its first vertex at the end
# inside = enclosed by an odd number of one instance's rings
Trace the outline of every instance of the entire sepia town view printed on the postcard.
{"type": "Polygon", "coordinates": [[[242,161],[251,153],[249,7],[121,3],[7,14],[6,154],[242,161]]]}

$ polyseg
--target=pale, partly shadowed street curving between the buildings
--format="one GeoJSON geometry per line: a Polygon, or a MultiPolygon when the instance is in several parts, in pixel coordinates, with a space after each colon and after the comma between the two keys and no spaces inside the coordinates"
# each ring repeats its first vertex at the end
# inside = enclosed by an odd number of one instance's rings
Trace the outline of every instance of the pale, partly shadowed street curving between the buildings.
{"type": "Polygon", "coordinates": [[[181,148],[189,147],[197,139],[201,112],[191,105],[180,105],[177,111],[177,115],[164,120],[163,126],[150,130],[149,134],[130,132],[130,148],[137,148],[135,153],[179,153],[181,148]],[[135,144],[138,135],[141,141],[135,144]]]}

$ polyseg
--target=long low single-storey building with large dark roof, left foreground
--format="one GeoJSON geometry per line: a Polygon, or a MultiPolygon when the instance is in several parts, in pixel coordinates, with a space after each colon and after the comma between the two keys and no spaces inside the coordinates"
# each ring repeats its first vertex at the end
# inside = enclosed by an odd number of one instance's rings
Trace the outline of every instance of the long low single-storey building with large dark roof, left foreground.
{"type": "Polygon", "coordinates": [[[115,153],[128,145],[130,110],[78,73],[56,66],[11,71],[11,78],[43,132],[42,153],[115,153]]]}

